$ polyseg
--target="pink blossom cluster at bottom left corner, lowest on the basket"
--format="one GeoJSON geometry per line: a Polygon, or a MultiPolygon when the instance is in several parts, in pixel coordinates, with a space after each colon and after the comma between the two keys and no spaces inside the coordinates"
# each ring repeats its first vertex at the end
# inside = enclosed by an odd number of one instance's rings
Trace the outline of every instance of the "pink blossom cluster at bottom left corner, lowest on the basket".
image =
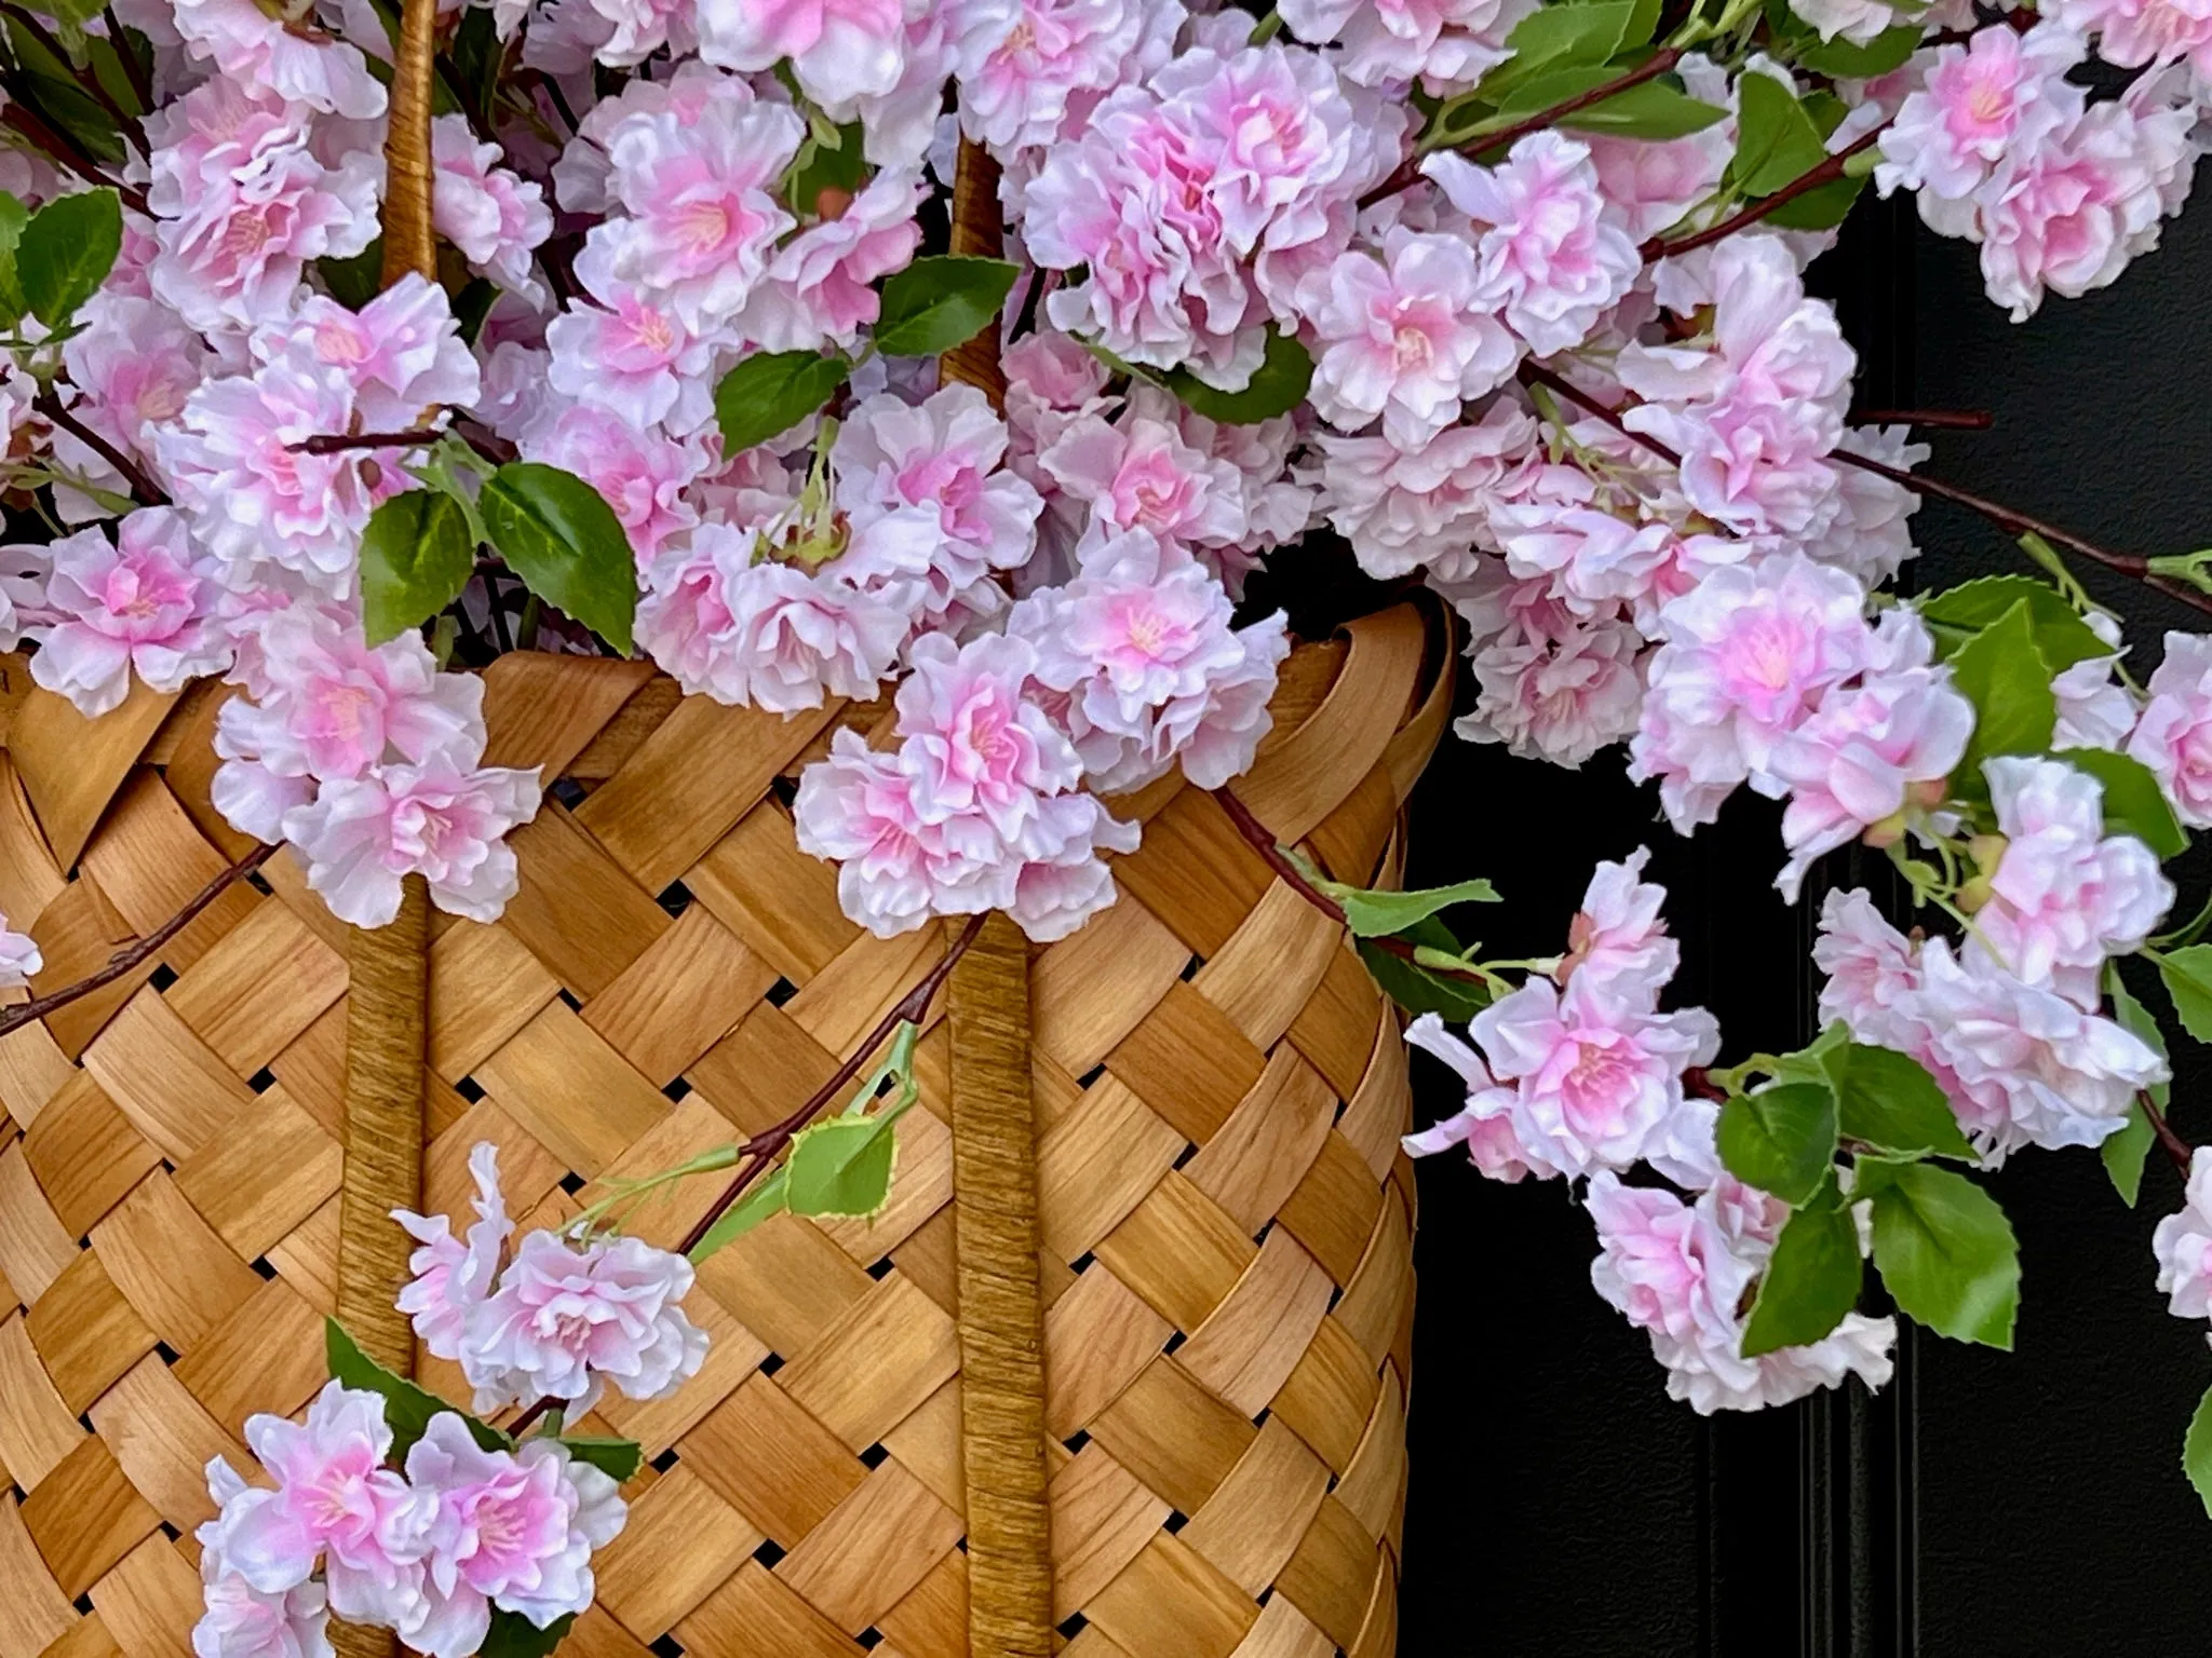
{"type": "Polygon", "coordinates": [[[246,1444],[276,1483],[208,1463],[199,1658],[327,1654],[332,1614],[469,1658],[495,1609],[544,1629],[588,1607],[591,1554],[626,1519],[615,1481],[557,1439],[484,1450],[449,1410],[389,1468],[383,1397],[338,1382],[305,1421],[250,1417],[246,1444]]]}

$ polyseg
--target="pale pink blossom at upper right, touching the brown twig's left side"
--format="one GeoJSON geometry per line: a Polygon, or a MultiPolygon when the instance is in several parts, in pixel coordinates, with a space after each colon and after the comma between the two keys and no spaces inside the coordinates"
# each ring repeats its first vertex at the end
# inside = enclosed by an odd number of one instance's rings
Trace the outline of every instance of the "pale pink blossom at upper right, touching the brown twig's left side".
{"type": "Polygon", "coordinates": [[[1495,168],[1440,150],[1420,170],[1480,228],[1480,290],[1537,356],[1582,345],[1644,270],[1579,139],[1531,133],[1495,168]]]}

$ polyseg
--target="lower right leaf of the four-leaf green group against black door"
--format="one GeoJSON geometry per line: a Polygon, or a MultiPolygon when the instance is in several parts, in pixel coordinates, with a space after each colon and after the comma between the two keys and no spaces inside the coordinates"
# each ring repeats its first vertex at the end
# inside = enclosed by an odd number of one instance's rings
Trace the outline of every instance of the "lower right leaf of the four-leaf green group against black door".
{"type": "Polygon", "coordinates": [[[2011,1351],[2020,1245],[1997,1200],[1933,1163],[1860,1158],[1858,1180],[1891,1300],[1938,1335],[2011,1351]]]}

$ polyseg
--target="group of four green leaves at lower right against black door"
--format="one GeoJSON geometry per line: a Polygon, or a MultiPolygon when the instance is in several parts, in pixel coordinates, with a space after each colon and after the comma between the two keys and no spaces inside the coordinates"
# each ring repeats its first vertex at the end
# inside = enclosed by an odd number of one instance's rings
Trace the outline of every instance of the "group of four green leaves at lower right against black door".
{"type": "Polygon", "coordinates": [[[1743,1331],[1747,1357],[1818,1342],[1858,1304],[1854,1209],[1898,1309],[1940,1335],[2011,1349],[2020,1247],[2004,1209],[1944,1163],[1971,1163],[1951,1103],[1913,1059],[1851,1041],[1756,1061],[1763,1083],[1721,1105],[1721,1163],[1790,1205],[1743,1331]]]}

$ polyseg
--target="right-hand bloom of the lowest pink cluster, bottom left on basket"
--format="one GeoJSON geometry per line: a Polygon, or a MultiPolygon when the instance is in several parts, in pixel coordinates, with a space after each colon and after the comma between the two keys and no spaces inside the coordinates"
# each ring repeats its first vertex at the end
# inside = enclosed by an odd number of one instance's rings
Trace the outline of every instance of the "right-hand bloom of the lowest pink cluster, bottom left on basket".
{"type": "Polygon", "coordinates": [[[469,1658],[493,1607],[538,1629],[584,1612],[595,1587],[591,1552],[628,1519],[615,1481],[560,1441],[484,1450],[451,1410],[434,1415],[407,1450],[407,1479],[436,1514],[422,1565],[429,1616],[407,1631],[425,1658],[469,1658]]]}

